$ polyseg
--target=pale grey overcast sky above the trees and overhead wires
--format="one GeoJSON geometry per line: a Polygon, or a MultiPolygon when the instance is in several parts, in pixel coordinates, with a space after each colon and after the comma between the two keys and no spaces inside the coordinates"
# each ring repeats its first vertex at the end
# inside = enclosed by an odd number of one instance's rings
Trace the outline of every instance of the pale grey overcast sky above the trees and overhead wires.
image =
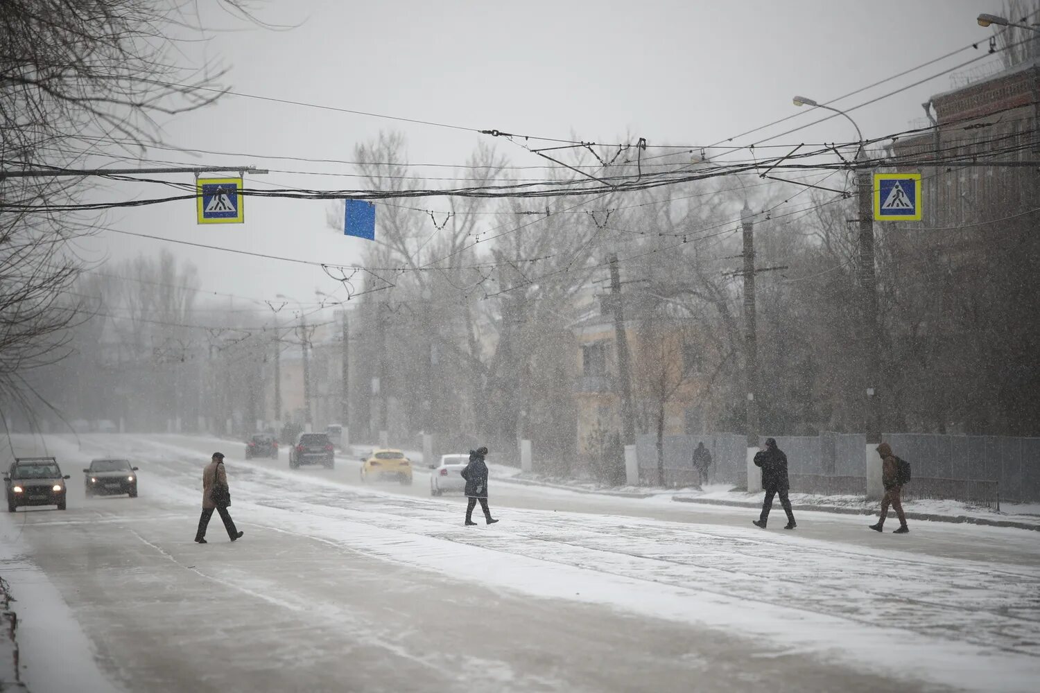
{"type": "MultiPolygon", "coordinates": [[[[737,140],[747,144],[826,114],[796,109],[795,95],[827,102],[979,42],[977,50],[834,104],[852,108],[985,56],[992,32],[979,27],[974,18],[1000,9],[998,0],[295,0],[256,4],[257,16],[269,24],[298,25],[286,30],[242,25],[223,11],[207,10],[204,19],[210,26],[237,30],[216,33],[204,48],[207,57],[230,68],[226,83],[237,91],[546,137],[573,134],[582,140],[619,141],[630,135],[645,137],[651,145],[706,145],[800,112],[796,119],[737,140]]],[[[186,46],[186,57],[198,59],[191,51],[202,49],[186,46]]],[[[899,132],[925,115],[922,102],[951,84],[946,74],[851,114],[866,137],[899,132]]],[[[162,125],[163,137],[173,145],[261,157],[354,160],[358,142],[396,129],[408,137],[413,163],[461,164],[478,141],[491,139],[232,96],[162,125]]],[[[835,118],[773,143],[853,139],[849,122],[835,118]]],[[[544,163],[506,141],[491,143],[514,164],[544,163]]],[[[349,166],[243,156],[159,150],[144,156],[188,165],[356,172],[349,166]]],[[[95,163],[156,165],[111,159],[95,163]]],[[[249,184],[359,187],[357,179],[274,170],[249,184]]],[[[168,188],[110,184],[97,196],[164,194],[168,188]]],[[[115,210],[105,222],[284,258],[359,262],[363,241],[348,240],[328,226],[330,206],[251,198],[244,224],[197,225],[193,203],[178,202],[115,210]]],[[[440,210],[444,201],[416,201],[415,206],[440,210]]],[[[88,243],[94,257],[115,260],[139,251],[157,254],[164,246],[194,262],[204,288],[212,291],[257,299],[285,293],[307,301],[313,300],[315,289],[332,293],[339,287],[318,268],[277,260],[105,232],[88,243]]]]}

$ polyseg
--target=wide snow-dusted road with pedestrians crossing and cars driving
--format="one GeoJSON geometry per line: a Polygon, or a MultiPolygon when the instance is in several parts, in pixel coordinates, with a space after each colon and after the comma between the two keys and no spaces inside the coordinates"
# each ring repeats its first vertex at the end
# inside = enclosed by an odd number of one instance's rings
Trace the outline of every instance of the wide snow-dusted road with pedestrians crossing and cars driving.
{"type": "MultiPolygon", "coordinates": [[[[45,452],[29,437],[16,447],[45,452]]],[[[1034,532],[936,523],[879,535],[828,513],[762,532],[747,509],[494,477],[502,522],[464,528],[464,501],[430,498],[424,473],[411,487],[362,486],[355,460],[290,471],[284,453],[246,462],[240,444],[190,436],[46,448],[72,475],[69,510],[5,513],[0,577],[16,596],[19,576],[53,585],[89,651],[67,679],[30,666],[35,693],[1033,691],[1040,679],[1034,532]],[[216,449],[246,534],[229,543],[214,519],[198,545],[201,470],[216,449]],[[140,467],[138,499],[83,498],[80,470],[104,454],[140,467]]]]}

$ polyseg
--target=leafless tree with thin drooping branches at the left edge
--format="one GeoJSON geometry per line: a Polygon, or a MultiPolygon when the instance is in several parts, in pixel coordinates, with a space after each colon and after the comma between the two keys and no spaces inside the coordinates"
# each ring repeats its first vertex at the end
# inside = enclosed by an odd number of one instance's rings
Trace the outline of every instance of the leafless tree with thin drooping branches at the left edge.
{"type": "MultiPolygon", "coordinates": [[[[249,18],[244,0],[222,4],[249,18]]],[[[98,141],[156,141],[156,115],[218,98],[219,65],[184,69],[174,55],[173,27],[205,35],[194,12],[176,0],[0,3],[0,392],[10,397],[24,400],[27,370],[68,355],[84,267],[70,241],[99,222],[63,209],[88,184],[11,174],[73,167],[98,141]]]]}

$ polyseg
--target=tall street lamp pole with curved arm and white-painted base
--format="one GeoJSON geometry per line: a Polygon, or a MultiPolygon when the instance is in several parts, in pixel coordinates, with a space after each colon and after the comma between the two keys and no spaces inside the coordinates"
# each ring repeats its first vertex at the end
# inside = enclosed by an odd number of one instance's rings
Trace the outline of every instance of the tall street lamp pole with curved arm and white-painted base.
{"type": "Polygon", "coordinates": [[[881,469],[876,463],[873,448],[881,443],[881,422],[878,417],[880,359],[878,356],[878,279],[874,267],[874,176],[864,165],[863,133],[856,122],[842,110],[817,103],[805,97],[795,97],[796,106],[825,108],[843,115],[856,128],[859,152],[856,154],[856,188],[859,193],[859,285],[863,318],[863,387],[866,395],[866,480],[867,495],[881,495],[881,469]]]}

